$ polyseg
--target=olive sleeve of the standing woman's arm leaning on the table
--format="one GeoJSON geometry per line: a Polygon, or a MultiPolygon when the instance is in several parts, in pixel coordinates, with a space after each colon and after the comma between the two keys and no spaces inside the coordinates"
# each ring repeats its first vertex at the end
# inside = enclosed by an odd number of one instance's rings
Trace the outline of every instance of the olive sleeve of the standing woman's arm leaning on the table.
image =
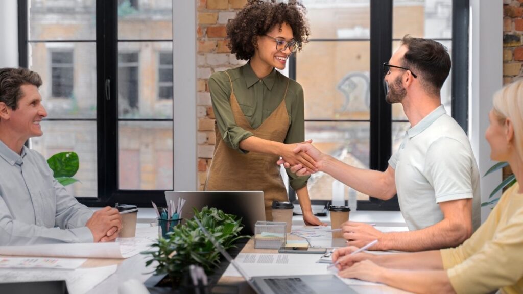
{"type": "MultiPolygon", "coordinates": [[[[290,111],[290,126],[287,131],[287,137],[285,138],[285,144],[295,144],[305,141],[305,115],[304,115],[304,104],[303,104],[303,88],[297,84],[297,91],[293,93],[295,95],[292,100],[292,106],[290,111]]],[[[298,190],[307,185],[310,176],[297,176],[290,171],[290,168],[285,169],[289,176],[289,184],[292,189],[298,190]]]]}

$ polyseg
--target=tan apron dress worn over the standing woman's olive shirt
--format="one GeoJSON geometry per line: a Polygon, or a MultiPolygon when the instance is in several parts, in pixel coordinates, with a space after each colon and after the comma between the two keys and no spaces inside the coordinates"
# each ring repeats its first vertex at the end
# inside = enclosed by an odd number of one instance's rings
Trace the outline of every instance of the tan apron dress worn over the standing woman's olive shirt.
{"type": "MultiPolygon", "coordinates": [[[[227,75],[229,73],[225,72],[227,75]]],[[[289,116],[285,105],[287,88],[280,105],[257,129],[253,129],[245,118],[236,97],[234,96],[231,76],[231,109],[238,127],[252,132],[256,137],[283,143],[289,129],[289,116]]],[[[216,145],[207,176],[205,190],[208,191],[263,191],[265,198],[265,219],[272,220],[272,200],[288,201],[287,191],[280,175],[280,158],[260,152],[240,153],[227,146],[221,137],[218,126],[214,124],[216,145]]]]}

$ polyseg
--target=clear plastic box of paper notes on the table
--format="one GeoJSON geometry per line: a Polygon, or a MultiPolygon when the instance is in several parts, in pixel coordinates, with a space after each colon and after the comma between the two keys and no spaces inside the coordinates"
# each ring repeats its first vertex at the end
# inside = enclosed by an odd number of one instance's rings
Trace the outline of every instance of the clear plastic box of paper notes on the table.
{"type": "Polygon", "coordinates": [[[278,249],[287,243],[287,223],[257,221],[254,225],[254,248],[278,249]]]}

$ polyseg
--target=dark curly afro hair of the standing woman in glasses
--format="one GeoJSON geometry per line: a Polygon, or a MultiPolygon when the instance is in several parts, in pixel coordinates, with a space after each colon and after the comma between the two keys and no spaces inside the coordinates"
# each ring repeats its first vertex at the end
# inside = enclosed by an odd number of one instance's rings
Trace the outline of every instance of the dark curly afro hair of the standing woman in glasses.
{"type": "Polygon", "coordinates": [[[304,17],[305,6],[296,0],[248,0],[234,19],[227,24],[228,47],[237,59],[249,60],[254,55],[258,36],[265,35],[275,25],[286,22],[292,28],[298,50],[308,42],[309,25],[304,17]]]}

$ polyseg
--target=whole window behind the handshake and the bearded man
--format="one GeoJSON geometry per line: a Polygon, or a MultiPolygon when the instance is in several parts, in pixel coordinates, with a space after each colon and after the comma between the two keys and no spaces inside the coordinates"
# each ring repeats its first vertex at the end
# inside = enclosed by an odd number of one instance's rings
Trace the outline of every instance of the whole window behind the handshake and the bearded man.
{"type": "MultiPolygon", "coordinates": [[[[289,72],[304,88],[305,138],[347,164],[384,171],[410,124],[400,104],[391,106],[384,99],[381,64],[408,33],[441,42],[449,49],[453,69],[467,69],[468,21],[454,20],[468,19],[468,5],[451,0],[304,0],[303,4],[310,42],[291,57],[289,72]]],[[[442,103],[458,122],[467,116],[463,111],[467,71],[462,73],[451,72],[441,90],[442,103]],[[456,104],[461,107],[454,109],[456,104]]],[[[323,173],[311,176],[313,202],[332,198],[333,181],[323,173]]],[[[346,200],[348,194],[345,187],[346,200]]],[[[396,197],[382,201],[357,193],[357,198],[358,209],[399,209],[396,197]]]]}

